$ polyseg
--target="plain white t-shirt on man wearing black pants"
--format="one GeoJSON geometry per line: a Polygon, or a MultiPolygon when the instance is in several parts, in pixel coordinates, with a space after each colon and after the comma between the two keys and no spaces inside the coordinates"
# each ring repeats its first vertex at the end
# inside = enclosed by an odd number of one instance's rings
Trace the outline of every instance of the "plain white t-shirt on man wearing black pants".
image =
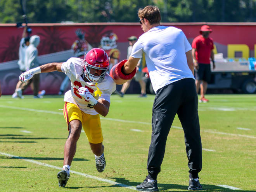
{"type": "Polygon", "coordinates": [[[145,52],[150,80],[156,92],[183,78],[195,79],[185,54],[191,49],[181,29],[157,26],[139,37],[133,45],[131,57],[142,58],[142,52],[145,52]]]}

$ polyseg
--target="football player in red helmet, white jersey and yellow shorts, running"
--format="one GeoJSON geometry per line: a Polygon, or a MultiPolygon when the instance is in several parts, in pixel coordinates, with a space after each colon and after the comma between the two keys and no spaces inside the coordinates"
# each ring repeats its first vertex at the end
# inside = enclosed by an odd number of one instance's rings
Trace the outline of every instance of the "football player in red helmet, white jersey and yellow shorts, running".
{"type": "Polygon", "coordinates": [[[109,112],[110,95],[116,89],[116,83],[106,72],[109,69],[109,57],[99,48],[93,48],[85,59],[70,58],[64,63],[48,63],[22,73],[21,82],[27,82],[37,73],[60,71],[71,80],[71,90],[64,96],[64,117],[69,136],[64,148],[63,170],[57,174],[59,186],[65,187],[69,179],[71,162],[76,152],[76,143],[81,129],[85,131],[90,148],[95,155],[96,168],[103,172],[106,166],[100,115],[109,112]]]}

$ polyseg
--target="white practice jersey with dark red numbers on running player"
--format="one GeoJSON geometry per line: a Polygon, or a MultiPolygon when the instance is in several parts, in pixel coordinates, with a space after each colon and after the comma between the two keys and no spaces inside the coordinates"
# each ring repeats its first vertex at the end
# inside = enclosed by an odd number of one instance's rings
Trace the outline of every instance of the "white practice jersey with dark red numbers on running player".
{"type": "Polygon", "coordinates": [[[104,99],[110,102],[110,95],[116,90],[116,83],[109,74],[106,74],[104,80],[97,85],[102,94],[95,96],[94,92],[97,90],[95,84],[85,82],[81,76],[84,72],[83,61],[83,59],[73,57],[62,63],[62,72],[71,80],[71,90],[65,93],[64,101],[76,104],[86,114],[97,115],[98,112],[93,109],[92,105],[78,94],[78,88],[86,87],[95,99],[104,99]]]}

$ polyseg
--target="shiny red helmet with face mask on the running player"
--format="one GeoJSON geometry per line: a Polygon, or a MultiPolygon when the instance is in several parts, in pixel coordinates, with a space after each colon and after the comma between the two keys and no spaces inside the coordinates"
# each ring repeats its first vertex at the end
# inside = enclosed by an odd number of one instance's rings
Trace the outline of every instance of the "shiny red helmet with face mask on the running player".
{"type": "Polygon", "coordinates": [[[109,68],[109,57],[107,53],[100,48],[93,48],[85,54],[85,76],[92,83],[100,83],[109,68]],[[100,76],[92,75],[90,73],[91,68],[102,70],[100,76]]]}

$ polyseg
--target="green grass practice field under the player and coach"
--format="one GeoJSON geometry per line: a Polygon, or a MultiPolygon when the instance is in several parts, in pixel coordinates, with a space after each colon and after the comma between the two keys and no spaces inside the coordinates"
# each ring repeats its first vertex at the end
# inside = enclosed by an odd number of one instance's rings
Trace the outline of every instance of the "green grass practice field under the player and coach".
{"type": "MultiPolygon", "coordinates": [[[[214,192],[256,190],[256,95],[207,95],[199,103],[203,189],[214,192]]],[[[60,188],[68,136],[63,98],[0,98],[0,192],[129,192],[147,175],[154,95],[111,96],[102,117],[106,169],[98,173],[87,138],[81,133],[69,181],[60,188]],[[141,132],[134,131],[138,129],[141,132]],[[119,183],[119,184],[117,184],[119,183]],[[130,187],[129,187],[130,186],[130,187]]],[[[160,191],[187,191],[189,173],[181,124],[177,117],[168,136],[157,178],[160,191]]]]}

